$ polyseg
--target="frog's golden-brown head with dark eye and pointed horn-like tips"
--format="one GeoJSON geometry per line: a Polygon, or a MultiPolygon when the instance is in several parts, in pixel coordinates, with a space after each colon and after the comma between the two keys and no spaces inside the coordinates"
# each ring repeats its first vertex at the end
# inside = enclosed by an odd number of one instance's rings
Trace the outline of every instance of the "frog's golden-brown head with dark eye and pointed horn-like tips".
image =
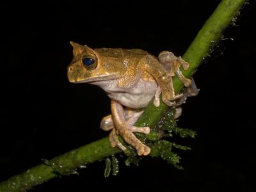
{"type": "Polygon", "coordinates": [[[86,45],[70,42],[74,58],[68,65],[68,80],[71,83],[98,83],[121,76],[115,63],[86,45]]]}

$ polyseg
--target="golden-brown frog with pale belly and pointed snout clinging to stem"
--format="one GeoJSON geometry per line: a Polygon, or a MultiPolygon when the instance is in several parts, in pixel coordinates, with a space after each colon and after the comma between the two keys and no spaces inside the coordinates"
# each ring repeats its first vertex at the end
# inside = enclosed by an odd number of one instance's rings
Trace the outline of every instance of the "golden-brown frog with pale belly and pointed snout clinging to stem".
{"type": "Polygon", "coordinates": [[[186,97],[196,95],[195,92],[175,95],[173,89],[175,74],[184,86],[194,85],[180,70],[181,67],[187,70],[189,63],[170,51],[160,52],[157,59],[142,49],[92,49],[76,42],[70,44],[74,57],[67,67],[68,81],[99,86],[111,100],[111,114],[100,122],[101,129],[111,130],[110,146],[124,152],[127,150],[118,140],[120,135],[136,149],[138,156],[150,154],[150,147],[134,135],[134,132],[148,134],[150,127],[136,127],[134,123],[153,98],[154,106],[159,107],[161,93],[163,102],[168,106],[177,106],[186,97]]]}

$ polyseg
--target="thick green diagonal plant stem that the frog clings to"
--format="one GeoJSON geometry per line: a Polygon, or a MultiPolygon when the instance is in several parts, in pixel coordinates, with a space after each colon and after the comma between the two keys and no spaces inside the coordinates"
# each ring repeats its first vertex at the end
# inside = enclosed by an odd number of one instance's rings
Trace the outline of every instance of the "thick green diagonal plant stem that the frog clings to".
{"type": "MultiPolygon", "coordinates": [[[[191,77],[202,60],[207,57],[211,47],[220,40],[223,31],[232,22],[239,13],[239,9],[246,0],[223,0],[218,5],[211,17],[205,22],[203,28],[199,31],[195,40],[185,52],[183,58],[189,62],[189,69],[183,71],[184,76],[191,77]]],[[[175,93],[180,92],[183,84],[174,77],[173,79],[175,93]]],[[[159,121],[168,106],[163,102],[156,108],[150,102],[143,115],[136,122],[136,126],[154,126],[159,121]]],[[[108,138],[95,141],[83,147],[67,152],[61,156],[55,157],[51,161],[35,166],[24,173],[15,175],[0,184],[0,192],[4,191],[25,191],[33,186],[57,177],[60,174],[76,173],[77,168],[84,164],[104,159],[112,154],[118,153],[118,148],[110,148],[108,138]]]]}

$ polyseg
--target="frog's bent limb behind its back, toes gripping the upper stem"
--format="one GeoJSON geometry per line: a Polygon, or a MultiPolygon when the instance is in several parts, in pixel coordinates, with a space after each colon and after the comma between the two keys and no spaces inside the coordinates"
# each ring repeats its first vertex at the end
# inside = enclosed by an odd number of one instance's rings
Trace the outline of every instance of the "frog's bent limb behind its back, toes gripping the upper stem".
{"type": "Polygon", "coordinates": [[[163,64],[168,71],[170,71],[170,76],[174,76],[175,73],[186,87],[190,86],[191,80],[184,77],[180,70],[180,65],[182,65],[184,70],[187,70],[189,68],[188,62],[184,61],[181,57],[175,56],[170,51],[160,52],[158,59],[160,63],[163,64]]]}

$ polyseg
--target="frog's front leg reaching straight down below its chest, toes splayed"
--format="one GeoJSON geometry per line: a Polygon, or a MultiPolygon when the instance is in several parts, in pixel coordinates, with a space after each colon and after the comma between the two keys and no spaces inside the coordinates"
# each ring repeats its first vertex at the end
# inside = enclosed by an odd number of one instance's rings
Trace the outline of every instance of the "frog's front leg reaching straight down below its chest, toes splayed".
{"type": "MultiPolygon", "coordinates": [[[[132,147],[136,148],[137,153],[139,156],[144,155],[147,156],[150,153],[150,148],[141,143],[136,136],[134,136],[133,132],[143,132],[148,134],[150,132],[149,127],[135,127],[125,121],[124,117],[124,109],[122,105],[115,101],[111,100],[111,113],[112,119],[115,124],[115,128],[112,130],[111,134],[109,135],[109,140],[112,142],[111,146],[114,147],[115,145],[119,147],[121,150],[126,150],[124,145],[117,140],[117,135],[120,134],[122,138],[124,138],[126,143],[132,145],[132,147]],[[121,144],[121,145],[120,145],[121,144]]],[[[133,122],[134,124],[134,122],[133,122]]]]}

